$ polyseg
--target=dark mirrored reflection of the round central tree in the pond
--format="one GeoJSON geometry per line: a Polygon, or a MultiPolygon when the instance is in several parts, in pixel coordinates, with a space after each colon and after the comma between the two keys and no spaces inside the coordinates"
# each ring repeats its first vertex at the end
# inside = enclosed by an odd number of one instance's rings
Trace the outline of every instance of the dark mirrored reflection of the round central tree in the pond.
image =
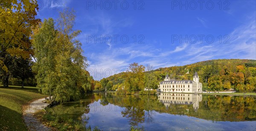
{"type": "Polygon", "coordinates": [[[141,109],[140,107],[127,106],[125,110],[121,111],[121,114],[123,117],[128,118],[130,124],[133,126],[145,121],[144,109],[141,109]]]}

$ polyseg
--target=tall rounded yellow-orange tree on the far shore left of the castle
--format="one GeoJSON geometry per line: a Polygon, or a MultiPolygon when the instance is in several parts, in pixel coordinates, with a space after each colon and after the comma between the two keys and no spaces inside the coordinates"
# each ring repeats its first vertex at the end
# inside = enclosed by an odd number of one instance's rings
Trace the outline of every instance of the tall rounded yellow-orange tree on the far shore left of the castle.
{"type": "Polygon", "coordinates": [[[139,91],[143,90],[144,83],[144,74],[145,67],[143,65],[139,65],[138,63],[132,63],[129,65],[125,79],[125,89],[128,91],[139,91]]]}

